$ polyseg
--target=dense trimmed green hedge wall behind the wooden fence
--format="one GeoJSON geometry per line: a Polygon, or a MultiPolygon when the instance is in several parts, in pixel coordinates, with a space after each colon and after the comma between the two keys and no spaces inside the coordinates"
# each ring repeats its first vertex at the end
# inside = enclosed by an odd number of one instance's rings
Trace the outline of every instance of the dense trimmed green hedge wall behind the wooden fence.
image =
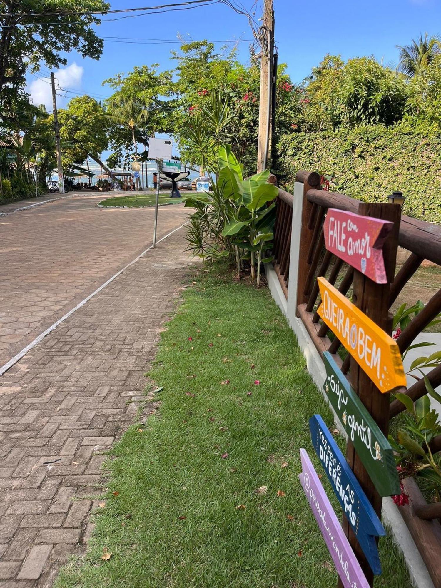
{"type": "Polygon", "coordinates": [[[331,190],[363,201],[385,201],[399,190],[403,213],[441,224],[441,135],[406,123],[336,132],[293,133],[280,139],[275,173],[291,187],[300,169],[333,178],[331,190]]]}

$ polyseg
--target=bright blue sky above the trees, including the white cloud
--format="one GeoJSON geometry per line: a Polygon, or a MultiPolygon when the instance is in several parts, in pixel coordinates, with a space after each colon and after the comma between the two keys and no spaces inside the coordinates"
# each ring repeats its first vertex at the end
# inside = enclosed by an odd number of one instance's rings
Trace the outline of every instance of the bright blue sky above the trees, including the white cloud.
{"type": "MultiPolygon", "coordinates": [[[[252,6],[252,0],[242,0],[242,3],[247,8],[252,6]]],[[[112,9],[154,4],[156,2],[152,0],[111,0],[112,9]]],[[[340,54],[344,59],[375,55],[385,63],[396,64],[396,45],[410,42],[420,32],[441,32],[441,0],[274,0],[274,8],[279,62],[288,64],[294,82],[301,82],[326,53],[340,54]]],[[[256,18],[261,12],[259,7],[256,18]]],[[[118,16],[125,15],[104,16],[103,20],[118,16]]],[[[159,63],[159,69],[169,69],[175,64],[170,59],[170,51],[178,49],[178,43],[146,44],[144,41],[145,44],[130,44],[121,41],[145,38],[176,41],[178,35],[214,41],[251,38],[245,17],[219,3],[181,12],[102,22],[96,29],[105,38],[101,59],[82,59],[72,52],[67,55],[68,66],[56,72],[61,86],[72,91],[66,94],[66,98],[59,96],[61,107],[76,95],[73,92],[90,93],[95,98],[111,95],[111,89],[102,86],[102,81],[118,72],[129,72],[135,65],[159,63]]],[[[222,45],[216,46],[220,48],[222,45]]],[[[248,61],[249,44],[240,42],[238,46],[241,61],[248,61]]],[[[48,71],[43,69],[39,75],[45,74],[48,71]]],[[[33,76],[29,76],[28,82],[34,102],[46,102],[50,111],[49,84],[33,76]]]]}

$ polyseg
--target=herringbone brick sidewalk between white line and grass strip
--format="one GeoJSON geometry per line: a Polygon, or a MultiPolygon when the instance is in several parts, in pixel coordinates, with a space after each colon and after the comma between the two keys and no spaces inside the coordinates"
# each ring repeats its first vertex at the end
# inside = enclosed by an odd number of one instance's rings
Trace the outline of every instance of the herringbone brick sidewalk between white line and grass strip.
{"type": "MultiPolygon", "coordinates": [[[[0,377],[1,588],[49,587],[59,565],[84,552],[102,452],[133,422],[143,373],[191,262],[184,231],[0,377]]],[[[147,400],[145,413],[155,409],[147,400]]]]}

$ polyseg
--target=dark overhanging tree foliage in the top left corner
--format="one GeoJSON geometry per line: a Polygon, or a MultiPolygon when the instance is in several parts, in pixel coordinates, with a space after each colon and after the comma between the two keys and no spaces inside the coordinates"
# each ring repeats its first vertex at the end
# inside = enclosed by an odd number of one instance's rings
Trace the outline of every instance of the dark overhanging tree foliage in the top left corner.
{"type": "Polygon", "coordinates": [[[26,71],[66,65],[65,52],[98,59],[103,41],[91,28],[106,11],[103,0],[0,0],[0,116],[7,118],[23,99],[26,71]]]}

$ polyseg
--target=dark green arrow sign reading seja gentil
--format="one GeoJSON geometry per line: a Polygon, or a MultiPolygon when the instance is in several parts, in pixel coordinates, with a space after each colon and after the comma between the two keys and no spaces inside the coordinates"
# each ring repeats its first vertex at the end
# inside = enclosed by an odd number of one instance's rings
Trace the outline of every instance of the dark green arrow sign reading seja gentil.
{"type": "Polygon", "coordinates": [[[323,353],[323,359],[327,376],[323,388],[377,492],[380,496],[399,494],[400,482],[392,447],[330,353],[323,353]]]}

